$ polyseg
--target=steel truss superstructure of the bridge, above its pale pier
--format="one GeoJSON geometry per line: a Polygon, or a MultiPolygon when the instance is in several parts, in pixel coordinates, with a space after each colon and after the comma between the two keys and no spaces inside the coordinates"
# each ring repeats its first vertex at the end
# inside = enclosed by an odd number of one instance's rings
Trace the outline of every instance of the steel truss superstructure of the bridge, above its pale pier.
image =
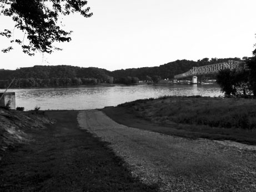
{"type": "Polygon", "coordinates": [[[231,69],[231,70],[237,69],[237,70],[240,70],[240,69],[244,69],[244,68],[245,68],[245,63],[244,62],[229,60],[228,62],[224,62],[224,63],[204,65],[204,66],[201,66],[201,67],[193,67],[192,69],[188,70],[188,72],[175,75],[174,79],[192,77],[192,76],[196,76],[196,75],[218,73],[222,69],[231,69]]]}

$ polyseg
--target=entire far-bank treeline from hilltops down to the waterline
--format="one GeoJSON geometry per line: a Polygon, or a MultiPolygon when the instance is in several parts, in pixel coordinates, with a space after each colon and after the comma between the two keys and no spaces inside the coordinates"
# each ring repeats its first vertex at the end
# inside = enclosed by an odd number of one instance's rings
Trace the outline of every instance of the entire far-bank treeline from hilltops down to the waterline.
{"type": "Polygon", "coordinates": [[[83,68],[71,65],[35,65],[34,67],[16,70],[0,69],[0,88],[6,88],[13,78],[16,78],[12,88],[26,87],[70,87],[78,85],[95,85],[99,83],[135,84],[139,80],[172,79],[174,75],[184,73],[192,67],[199,67],[214,63],[240,60],[240,58],[204,58],[197,62],[193,60],[176,60],[159,67],[143,67],[114,70],[95,67],[83,68]]]}

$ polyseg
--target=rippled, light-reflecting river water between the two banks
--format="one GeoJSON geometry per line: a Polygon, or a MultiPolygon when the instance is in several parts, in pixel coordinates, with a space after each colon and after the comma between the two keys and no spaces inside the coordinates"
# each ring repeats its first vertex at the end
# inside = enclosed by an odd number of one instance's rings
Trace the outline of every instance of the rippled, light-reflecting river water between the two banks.
{"type": "MultiPolygon", "coordinates": [[[[0,89],[4,92],[4,89],[0,89]]],[[[16,93],[16,107],[48,109],[96,109],[164,95],[222,95],[217,84],[89,86],[72,88],[9,89],[16,93]]]]}

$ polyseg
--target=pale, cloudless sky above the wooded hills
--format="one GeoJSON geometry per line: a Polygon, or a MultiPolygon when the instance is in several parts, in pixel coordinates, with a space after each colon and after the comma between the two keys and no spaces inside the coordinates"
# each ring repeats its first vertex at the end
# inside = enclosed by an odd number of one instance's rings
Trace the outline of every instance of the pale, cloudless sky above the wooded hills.
{"type": "MultiPolygon", "coordinates": [[[[31,57],[13,44],[0,69],[73,65],[107,70],[153,67],[177,59],[251,57],[256,43],[255,0],[88,0],[93,16],[62,17],[72,41],[31,57]]],[[[0,16],[0,31],[13,31],[0,16]]],[[[23,33],[14,29],[14,38],[23,33]]],[[[12,37],[13,38],[13,37],[12,37]]],[[[11,46],[0,36],[0,49],[11,46]]]]}

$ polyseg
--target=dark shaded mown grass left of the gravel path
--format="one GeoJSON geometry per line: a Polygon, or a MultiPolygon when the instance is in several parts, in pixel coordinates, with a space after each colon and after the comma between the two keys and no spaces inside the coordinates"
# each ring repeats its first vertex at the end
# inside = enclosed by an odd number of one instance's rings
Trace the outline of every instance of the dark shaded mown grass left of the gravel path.
{"type": "Polygon", "coordinates": [[[76,111],[50,111],[47,129],[28,129],[34,142],[18,144],[0,160],[3,191],[157,191],[132,178],[126,163],[86,130],[76,111]]]}

